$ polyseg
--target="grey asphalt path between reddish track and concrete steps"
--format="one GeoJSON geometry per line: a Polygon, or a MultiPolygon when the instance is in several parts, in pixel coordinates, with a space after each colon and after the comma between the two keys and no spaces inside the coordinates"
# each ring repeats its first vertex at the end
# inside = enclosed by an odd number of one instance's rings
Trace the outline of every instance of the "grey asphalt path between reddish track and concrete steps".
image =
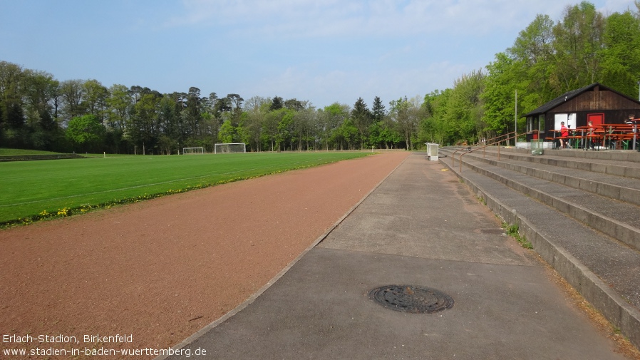
{"type": "Polygon", "coordinates": [[[414,153],[242,310],[181,347],[212,359],[625,359],[550,270],[438,162],[414,153]],[[453,307],[393,311],[377,287],[453,307]]]}

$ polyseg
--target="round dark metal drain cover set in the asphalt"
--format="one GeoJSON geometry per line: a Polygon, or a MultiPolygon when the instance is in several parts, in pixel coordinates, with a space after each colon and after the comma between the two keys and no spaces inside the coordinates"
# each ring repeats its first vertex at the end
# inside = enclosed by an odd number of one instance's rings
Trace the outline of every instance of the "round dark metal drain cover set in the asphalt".
{"type": "Polygon", "coordinates": [[[437,289],[413,285],[386,285],[369,292],[369,298],[387,309],[430,314],[453,307],[453,298],[437,289]]]}

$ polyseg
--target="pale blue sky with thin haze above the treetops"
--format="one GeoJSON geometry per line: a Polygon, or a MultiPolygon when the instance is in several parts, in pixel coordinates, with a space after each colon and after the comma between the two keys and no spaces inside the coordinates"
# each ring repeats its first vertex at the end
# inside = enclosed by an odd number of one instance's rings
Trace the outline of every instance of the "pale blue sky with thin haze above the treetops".
{"type": "MultiPolygon", "coordinates": [[[[589,1],[603,14],[633,0],[589,1]]],[[[0,0],[0,61],[58,81],[371,107],[453,88],[578,0],[0,0]]]]}

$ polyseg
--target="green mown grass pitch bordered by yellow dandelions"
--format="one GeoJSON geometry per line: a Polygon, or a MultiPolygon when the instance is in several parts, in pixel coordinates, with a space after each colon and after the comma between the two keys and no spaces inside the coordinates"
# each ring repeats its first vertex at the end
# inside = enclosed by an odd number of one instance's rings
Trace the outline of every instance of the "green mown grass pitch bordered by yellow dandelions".
{"type": "Polygon", "coordinates": [[[129,155],[0,163],[0,225],[67,216],[370,154],[129,155]]]}

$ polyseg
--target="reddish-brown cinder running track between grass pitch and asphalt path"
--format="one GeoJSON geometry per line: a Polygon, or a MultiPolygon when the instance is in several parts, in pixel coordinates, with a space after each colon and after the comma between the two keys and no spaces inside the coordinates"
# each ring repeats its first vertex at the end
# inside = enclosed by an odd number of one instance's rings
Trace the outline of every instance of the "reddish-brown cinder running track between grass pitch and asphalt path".
{"type": "Polygon", "coordinates": [[[407,156],[372,155],[2,230],[0,336],[78,343],[1,348],[167,349],[267,284],[407,156]],[[132,342],[84,342],[116,334],[132,342]]]}

